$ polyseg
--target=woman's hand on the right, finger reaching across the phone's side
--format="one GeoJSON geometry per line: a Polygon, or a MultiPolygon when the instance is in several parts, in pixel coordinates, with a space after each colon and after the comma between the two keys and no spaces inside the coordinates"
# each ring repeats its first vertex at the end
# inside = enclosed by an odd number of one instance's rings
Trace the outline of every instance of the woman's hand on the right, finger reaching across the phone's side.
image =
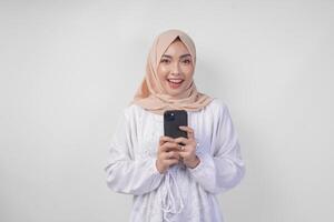
{"type": "Polygon", "coordinates": [[[195,140],[194,130],[189,127],[179,127],[180,130],[186,131],[188,139],[186,138],[177,138],[175,139],[176,143],[183,143],[184,145],[179,145],[180,151],[179,155],[183,158],[183,162],[188,168],[196,168],[200,162],[198,157],[196,155],[196,147],[197,142],[195,140]]]}

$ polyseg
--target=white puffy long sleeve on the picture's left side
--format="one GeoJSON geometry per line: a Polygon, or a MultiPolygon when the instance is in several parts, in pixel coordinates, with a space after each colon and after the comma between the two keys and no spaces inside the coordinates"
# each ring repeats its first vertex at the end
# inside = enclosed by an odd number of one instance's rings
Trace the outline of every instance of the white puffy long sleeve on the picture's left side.
{"type": "Polygon", "coordinates": [[[118,121],[105,168],[108,186],[119,193],[141,195],[158,188],[163,174],[156,169],[156,159],[135,159],[137,142],[135,122],[127,110],[118,121]]]}

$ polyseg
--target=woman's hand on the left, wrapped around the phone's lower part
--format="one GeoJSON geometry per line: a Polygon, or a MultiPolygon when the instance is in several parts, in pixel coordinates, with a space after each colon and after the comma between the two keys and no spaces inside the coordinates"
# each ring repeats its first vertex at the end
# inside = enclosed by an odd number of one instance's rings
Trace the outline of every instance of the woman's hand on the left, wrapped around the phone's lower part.
{"type": "Polygon", "coordinates": [[[177,164],[179,157],[179,145],[169,137],[160,137],[159,148],[157,153],[156,167],[160,173],[165,173],[168,168],[177,164]]]}

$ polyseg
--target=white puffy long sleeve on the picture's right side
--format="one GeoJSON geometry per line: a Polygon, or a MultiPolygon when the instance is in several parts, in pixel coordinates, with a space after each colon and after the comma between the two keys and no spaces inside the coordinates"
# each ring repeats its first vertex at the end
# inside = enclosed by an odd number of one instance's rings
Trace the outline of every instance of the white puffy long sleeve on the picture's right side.
{"type": "Polygon", "coordinates": [[[220,104],[216,114],[218,121],[212,135],[214,152],[209,152],[209,149],[199,149],[200,151],[196,153],[200,160],[199,164],[195,169],[188,169],[195,180],[210,193],[234,188],[245,174],[237,133],[227,105],[220,104]]]}

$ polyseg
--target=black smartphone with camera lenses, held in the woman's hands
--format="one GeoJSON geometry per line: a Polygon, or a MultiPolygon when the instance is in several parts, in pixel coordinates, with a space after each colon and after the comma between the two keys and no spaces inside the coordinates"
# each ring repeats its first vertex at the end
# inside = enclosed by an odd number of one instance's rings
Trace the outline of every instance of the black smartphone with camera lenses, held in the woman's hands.
{"type": "Polygon", "coordinates": [[[188,138],[179,125],[188,125],[188,113],[185,110],[167,110],[164,112],[164,132],[170,138],[188,138]]]}

